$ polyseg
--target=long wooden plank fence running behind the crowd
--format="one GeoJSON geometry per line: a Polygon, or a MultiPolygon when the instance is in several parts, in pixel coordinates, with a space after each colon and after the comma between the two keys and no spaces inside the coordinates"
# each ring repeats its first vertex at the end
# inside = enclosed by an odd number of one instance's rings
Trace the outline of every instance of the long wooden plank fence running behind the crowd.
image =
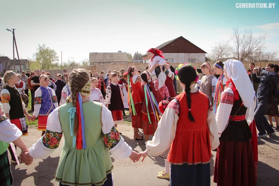
{"type": "MultiPolygon", "coordinates": [[[[199,66],[202,63],[193,63],[193,66],[195,68],[200,68],[199,66]]],[[[214,63],[210,63],[210,66],[213,67],[214,63]]],[[[244,67],[246,70],[249,69],[249,64],[250,63],[243,63],[244,67]]],[[[259,67],[265,67],[266,63],[255,63],[256,66],[259,67]]],[[[104,71],[105,74],[107,73],[108,70],[111,70],[111,72],[113,70],[119,71],[121,69],[124,69],[125,71],[127,71],[127,69],[129,68],[129,66],[135,66],[137,70],[140,70],[141,72],[144,71],[144,68],[147,66],[147,63],[120,63],[120,64],[98,64],[98,65],[92,65],[92,66],[80,66],[80,67],[65,67],[65,69],[67,69],[68,73],[70,73],[73,69],[78,69],[78,68],[82,68],[82,69],[86,69],[86,70],[91,70],[92,74],[94,74],[94,71],[96,70],[98,73],[100,73],[101,71],[104,71]]],[[[171,65],[174,68],[177,68],[179,63],[171,63],[171,65]]],[[[49,72],[51,74],[51,78],[55,78],[56,79],[56,74],[60,73],[60,74],[64,74],[63,69],[57,69],[57,70],[45,70],[46,72],[49,72]]],[[[179,81],[177,81],[177,91],[181,92],[182,88],[179,84],[179,81]]]]}

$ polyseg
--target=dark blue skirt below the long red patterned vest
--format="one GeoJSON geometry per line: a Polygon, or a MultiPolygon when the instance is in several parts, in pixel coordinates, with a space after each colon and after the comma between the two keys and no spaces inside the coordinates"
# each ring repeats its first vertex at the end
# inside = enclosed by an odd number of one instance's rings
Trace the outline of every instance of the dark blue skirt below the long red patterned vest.
{"type": "Polygon", "coordinates": [[[210,163],[170,164],[170,186],[210,186],[210,163]]]}

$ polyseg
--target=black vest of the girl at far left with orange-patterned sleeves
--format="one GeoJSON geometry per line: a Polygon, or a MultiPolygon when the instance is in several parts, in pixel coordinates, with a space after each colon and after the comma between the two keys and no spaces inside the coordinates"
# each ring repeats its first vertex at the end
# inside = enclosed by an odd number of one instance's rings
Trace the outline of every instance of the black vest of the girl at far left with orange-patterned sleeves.
{"type": "Polygon", "coordinates": [[[12,88],[10,86],[6,86],[5,89],[7,89],[11,95],[10,99],[10,118],[11,119],[19,119],[24,117],[24,111],[22,107],[21,97],[20,93],[16,88],[12,88]]]}

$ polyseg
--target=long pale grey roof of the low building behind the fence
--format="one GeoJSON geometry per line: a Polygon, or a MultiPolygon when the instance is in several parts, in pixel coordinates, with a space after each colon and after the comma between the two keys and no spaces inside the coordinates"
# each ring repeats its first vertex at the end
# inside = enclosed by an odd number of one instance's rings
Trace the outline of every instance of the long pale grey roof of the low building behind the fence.
{"type": "Polygon", "coordinates": [[[128,56],[126,52],[110,52],[110,53],[89,53],[89,62],[128,62],[128,56]]]}

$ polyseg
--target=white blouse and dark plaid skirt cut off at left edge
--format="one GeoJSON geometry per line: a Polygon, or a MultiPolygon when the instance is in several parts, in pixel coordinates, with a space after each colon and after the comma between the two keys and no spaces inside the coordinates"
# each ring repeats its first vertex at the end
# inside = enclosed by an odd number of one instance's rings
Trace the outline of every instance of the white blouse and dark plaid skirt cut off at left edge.
{"type": "Polygon", "coordinates": [[[11,124],[0,104],[0,184],[10,186],[13,184],[7,148],[9,143],[22,136],[22,131],[11,124]]]}

